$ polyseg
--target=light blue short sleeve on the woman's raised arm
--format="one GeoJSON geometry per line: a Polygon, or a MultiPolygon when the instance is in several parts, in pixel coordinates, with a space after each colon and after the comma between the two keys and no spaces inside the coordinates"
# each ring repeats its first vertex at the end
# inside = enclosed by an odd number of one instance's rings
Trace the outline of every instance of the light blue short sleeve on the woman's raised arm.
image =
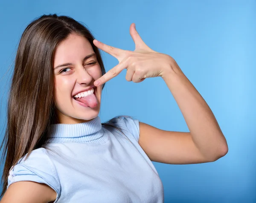
{"type": "Polygon", "coordinates": [[[117,123],[122,128],[128,129],[128,131],[133,135],[135,140],[139,142],[140,124],[138,119],[133,118],[132,116],[118,116],[111,121],[117,123]]]}

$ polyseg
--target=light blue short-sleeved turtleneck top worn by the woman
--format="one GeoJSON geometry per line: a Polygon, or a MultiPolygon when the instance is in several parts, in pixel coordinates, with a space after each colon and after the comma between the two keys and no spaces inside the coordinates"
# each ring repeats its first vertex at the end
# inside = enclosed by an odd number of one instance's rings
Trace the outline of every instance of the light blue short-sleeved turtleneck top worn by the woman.
{"type": "Polygon", "coordinates": [[[101,124],[99,116],[79,124],[52,124],[45,146],[10,169],[10,184],[30,180],[57,192],[54,203],[163,203],[163,184],[138,141],[140,126],[131,116],[101,124]],[[128,139],[127,139],[128,138],[128,139]],[[57,153],[56,153],[57,152],[57,153]]]}

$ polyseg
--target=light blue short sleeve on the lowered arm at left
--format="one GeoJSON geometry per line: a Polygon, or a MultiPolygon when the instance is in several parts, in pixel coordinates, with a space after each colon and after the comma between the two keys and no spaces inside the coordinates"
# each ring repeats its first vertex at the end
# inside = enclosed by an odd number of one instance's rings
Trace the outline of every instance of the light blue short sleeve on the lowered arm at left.
{"type": "Polygon", "coordinates": [[[55,190],[57,198],[60,194],[60,183],[52,161],[44,152],[44,148],[38,148],[31,152],[26,161],[23,156],[15,166],[9,170],[8,187],[18,181],[34,181],[45,183],[55,190]]]}

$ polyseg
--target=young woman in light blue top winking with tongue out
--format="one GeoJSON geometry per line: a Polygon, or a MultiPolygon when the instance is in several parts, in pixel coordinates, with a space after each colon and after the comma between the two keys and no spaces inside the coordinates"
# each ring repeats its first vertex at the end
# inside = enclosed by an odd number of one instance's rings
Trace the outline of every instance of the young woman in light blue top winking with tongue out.
{"type": "Polygon", "coordinates": [[[135,51],[98,42],[67,16],[43,15],[27,26],[9,95],[1,203],[162,203],[151,161],[195,164],[227,153],[213,113],[175,60],[145,45],[134,24],[130,34],[135,51]],[[99,49],[119,60],[107,73],[99,49]],[[105,82],[125,68],[128,81],[162,77],[190,132],[131,116],[101,123],[105,82]]]}

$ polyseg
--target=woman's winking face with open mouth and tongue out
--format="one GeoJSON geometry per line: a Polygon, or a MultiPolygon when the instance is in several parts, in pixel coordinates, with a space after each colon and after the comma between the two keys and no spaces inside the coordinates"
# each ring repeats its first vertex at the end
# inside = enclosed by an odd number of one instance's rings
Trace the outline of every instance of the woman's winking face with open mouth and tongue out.
{"type": "Polygon", "coordinates": [[[77,34],[70,34],[56,48],[53,67],[56,123],[76,124],[98,116],[102,85],[95,88],[93,82],[102,76],[102,72],[90,42],[77,34]],[[84,60],[91,54],[94,55],[84,60]],[[67,63],[69,65],[58,67],[67,63]],[[87,96],[87,104],[91,107],[82,106],[73,96],[90,87],[95,94],[87,96]]]}

